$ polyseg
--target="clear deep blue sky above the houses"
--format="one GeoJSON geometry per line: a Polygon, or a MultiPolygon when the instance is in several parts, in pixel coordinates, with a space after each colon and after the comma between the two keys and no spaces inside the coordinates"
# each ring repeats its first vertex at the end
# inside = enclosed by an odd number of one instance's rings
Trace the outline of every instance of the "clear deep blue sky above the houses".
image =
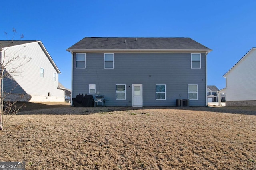
{"type": "Polygon", "coordinates": [[[8,0],[0,40],[41,40],[71,89],[71,54],[84,37],[190,37],[209,47],[208,85],[256,47],[256,0],[8,0]],[[8,32],[7,37],[4,32],[8,32]]]}

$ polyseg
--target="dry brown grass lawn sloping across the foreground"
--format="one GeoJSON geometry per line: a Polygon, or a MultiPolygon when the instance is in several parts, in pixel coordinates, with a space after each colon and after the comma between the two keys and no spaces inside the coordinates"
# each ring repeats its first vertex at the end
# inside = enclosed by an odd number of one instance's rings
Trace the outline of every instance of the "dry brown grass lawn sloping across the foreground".
{"type": "Polygon", "coordinates": [[[43,108],[11,118],[0,161],[50,170],[256,169],[255,107],[43,108]]]}

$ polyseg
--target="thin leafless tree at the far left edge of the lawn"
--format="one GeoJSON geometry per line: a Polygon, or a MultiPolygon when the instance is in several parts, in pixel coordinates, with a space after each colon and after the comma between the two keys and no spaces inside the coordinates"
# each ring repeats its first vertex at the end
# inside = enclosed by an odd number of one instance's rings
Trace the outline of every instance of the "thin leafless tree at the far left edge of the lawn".
{"type": "MultiPolygon", "coordinates": [[[[16,115],[22,108],[22,106],[17,107],[15,105],[16,102],[5,101],[6,96],[12,91],[4,92],[4,79],[14,80],[13,77],[19,76],[22,73],[22,66],[31,59],[30,57],[22,56],[22,49],[26,48],[26,46],[23,46],[18,51],[9,51],[11,46],[16,45],[15,43],[24,37],[21,34],[20,39],[15,41],[14,36],[17,33],[15,28],[13,28],[12,32],[14,33],[12,40],[6,41],[5,44],[0,43],[0,130],[3,130],[4,125],[10,120],[10,117],[16,115]]],[[[5,34],[7,36],[7,32],[5,34]]]]}

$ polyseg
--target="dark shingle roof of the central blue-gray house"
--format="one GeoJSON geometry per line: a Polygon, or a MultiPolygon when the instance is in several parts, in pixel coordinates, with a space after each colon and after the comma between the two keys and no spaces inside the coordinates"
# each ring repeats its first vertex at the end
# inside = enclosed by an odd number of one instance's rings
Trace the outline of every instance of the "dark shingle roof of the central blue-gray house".
{"type": "Polygon", "coordinates": [[[85,37],[67,51],[72,50],[204,50],[208,47],[191,38],[116,38],[85,37]]]}

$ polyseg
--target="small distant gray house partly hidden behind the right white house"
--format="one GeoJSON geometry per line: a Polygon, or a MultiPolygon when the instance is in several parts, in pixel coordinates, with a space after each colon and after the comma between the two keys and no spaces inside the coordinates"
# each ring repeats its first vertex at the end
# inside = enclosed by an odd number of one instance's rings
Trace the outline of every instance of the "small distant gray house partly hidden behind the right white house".
{"type": "Polygon", "coordinates": [[[218,102],[219,101],[219,94],[221,95],[221,101],[225,102],[226,95],[225,93],[218,93],[219,89],[215,85],[208,85],[207,86],[207,98],[208,102],[218,102]]]}

